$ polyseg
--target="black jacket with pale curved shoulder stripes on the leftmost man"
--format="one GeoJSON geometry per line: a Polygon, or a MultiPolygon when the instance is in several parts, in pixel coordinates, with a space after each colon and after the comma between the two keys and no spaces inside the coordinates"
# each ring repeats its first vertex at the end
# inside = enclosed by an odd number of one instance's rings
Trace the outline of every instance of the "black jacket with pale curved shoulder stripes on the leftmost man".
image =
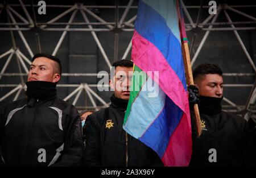
{"type": "Polygon", "coordinates": [[[81,120],[75,106],[27,98],[0,109],[1,162],[7,166],[81,164],[81,120]]]}

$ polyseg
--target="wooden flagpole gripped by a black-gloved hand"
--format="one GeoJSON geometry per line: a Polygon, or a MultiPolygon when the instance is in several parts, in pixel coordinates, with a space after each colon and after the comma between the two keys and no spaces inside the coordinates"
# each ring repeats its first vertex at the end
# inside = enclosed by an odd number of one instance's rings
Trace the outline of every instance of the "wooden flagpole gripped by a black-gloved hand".
{"type": "MultiPolygon", "coordinates": [[[[191,60],[190,60],[189,50],[188,50],[188,43],[182,42],[181,48],[182,48],[182,55],[183,55],[183,61],[184,61],[184,66],[185,66],[185,74],[186,74],[186,78],[187,78],[187,84],[194,85],[192,69],[191,69],[191,60]]],[[[197,136],[199,137],[202,133],[202,127],[201,127],[199,108],[198,108],[197,104],[194,105],[194,113],[195,113],[195,118],[196,118],[195,124],[196,124],[197,136]]]]}

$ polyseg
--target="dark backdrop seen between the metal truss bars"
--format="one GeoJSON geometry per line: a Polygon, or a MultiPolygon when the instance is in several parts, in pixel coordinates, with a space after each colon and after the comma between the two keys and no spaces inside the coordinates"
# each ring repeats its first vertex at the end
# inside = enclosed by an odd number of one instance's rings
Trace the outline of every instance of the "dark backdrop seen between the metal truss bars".
{"type": "MultiPolygon", "coordinates": [[[[19,1],[0,1],[2,5],[20,5],[19,1]]],[[[32,4],[37,5],[39,1],[23,1],[26,6],[28,13],[30,14],[31,18],[36,23],[45,23],[48,20],[55,18],[55,16],[63,13],[70,7],[47,7],[46,6],[46,15],[39,15],[38,14],[38,7],[34,7],[34,11],[32,8],[32,4]],[[34,16],[35,14],[35,16],[34,16]]],[[[74,5],[75,3],[83,3],[86,6],[115,6],[117,1],[115,0],[87,0],[87,1],[45,1],[46,5],[74,5]]],[[[118,6],[127,6],[129,1],[122,0],[118,1],[118,6]]],[[[200,6],[201,1],[183,1],[185,6],[200,6]]],[[[207,6],[209,1],[203,1],[203,5],[207,6]]],[[[234,7],[234,9],[240,10],[243,13],[256,17],[256,3],[255,1],[216,1],[217,5],[219,3],[227,3],[230,6],[234,5],[254,5],[251,7],[234,7]]],[[[138,5],[138,1],[134,0],[132,4],[132,8],[129,10],[125,21],[132,18],[137,13],[137,8],[134,6],[138,5]]],[[[20,6],[11,6],[14,10],[16,10],[20,15],[22,15],[25,19],[26,15],[20,6]]],[[[115,8],[88,8],[100,16],[102,19],[106,20],[107,22],[115,22],[115,8]]],[[[121,18],[125,8],[119,8],[118,10],[118,19],[121,18]]],[[[193,22],[196,23],[197,15],[199,14],[199,8],[188,8],[188,12],[191,15],[193,22]]],[[[233,22],[256,22],[253,19],[246,18],[240,14],[234,13],[233,11],[227,10],[230,18],[233,22]]],[[[71,17],[72,13],[65,15],[63,18],[57,20],[56,22],[68,22],[69,18],[71,17]]],[[[90,22],[98,22],[89,14],[86,14],[90,20],[90,22]]],[[[203,22],[205,18],[209,16],[208,9],[203,8],[201,10],[201,15],[199,18],[199,23],[203,22]]],[[[19,20],[15,15],[14,18],[17,22],[22,22],[19,20]]],[[[0,14],[0,23],[8,22],[6,10],[2,10],[0,14]]],[[[81,13],[78,11],[75,19],[73,22],[84,22],[81,13]]],[[[222,12],[216,22],[227,22],[227,19],[222,12]]],[[[187,17],[185,16],[185,23],[187,24],[187,28],[189,28],[189,22],[187,17]]],[[[134,24],[134,22],[133,22],[134,24]]],[[[113,25],[114,26],[114,25],[113,25]]],[[[256,27],[256,23],[251,24],[235,24],[236,27],[256,27]]],[[[7,28],[9,26],[1,24],[0,28],[7,28]]],[[[14,26],[12,26],[14,27],[14,26]]],[[[20,25],[19,27],[28,28],[28,25],[20,25]]],[[[52,25],[48,26],[49,28],[65,28],[65,25],[52,25]]],[[[47,28],[48,28],[47,27],[47,28]]],[[[204,28],[207,28],[205,26],[204,28]]],[[[229,24],[222,24],[216,25],[214,28],[217,27],[230,27],[229,24]]],[[[70,28],[88,28],[86,25],[75,26],[72,25],[70,28]]],[[[101,26],[93,26],[93,28],[107,28],[104,25],[101,26]]],[[[131,28],[131,27],[125,27],[131,28]]],[[[191,47],[191,59],[195,54],[197,47],[199,46],[201,39],[205,34],[205,30],[202,30],[200,27],[193,28],[192,30],[187,31],[187,36],[189,40],[189,45],[191,47]],[[192,43],[193,42],[193,43],[192,43]]],[[[63,31],[44,31],[38,27],[33,27],[30,30],[22,31],[24,37],[27,40],[28,45],[33,53],[39,52],[38,42],[36,40],[36,35],[38,35],[38,39],[40,41],[41,51],[44,53],[52,53],[55,49],[57,42],[60,39],[61,34],[63,31]]],[[[14,40],[16,47],[19,48],[24,55],[31,59],[27,49],[25,48],[20,36],[18,35],[17,31],[13,31],[14,40]]],[[[103,31],[103,32],[96,32],[98,39],[100,40],[102,47],[106,55],[108,56],[110,63],[113,63],[114,60],[119,60],[122,58],[123,53],[125,52],[127,45],[129,44],[131,37],[133,35],[132,31],[121,31],[118,40],[118,57],[114,59],[114,32],[113,31],[103,31]]],[[[256,30],[240,30],[238,31],[243,44],[251,59],[253,59],[254,64],[256,63],[256,30]]],[[[11,40],[11,32],[0,30],[0,54],[8,51],[10,48],[13,47],[13,42],[11,40]]],[[[102,56],[100,49],[97,47],[96,42],[94,41],[91,32],[89,31],[69,31],[65,36],[63,43],[61,44],[59,51],[56,53],[56,56],[59,57],[63,66],[63,73],[97,73],[100,71],[107,71],[109,72],[108,65],[102,56]]],[[[127,59],[130,59],[131,51],[127,56],[127,59]]],[[[5,61],[7,60],[8,56],[3,57],[0,59],[0,70],[2,70],[5,61]]],[[[251,67],[249,61],[245,53],[242,50],[240,43],[236,36],[234,35],[233,31],[211,31],[193,68],[201,63],[214,63],[218,64],[224,73],[250,73],[249,76],[225,76],[224,75],[224,82],[225,84],[251,84],[250,86],[246,87],[224,87],[224,96],[228,98],[228,100],[234,102],[234,104],[238,105],[238,107],[230,106],[227,102],[223,101],[222,105],[224,106],[223,109],[230,110],[230,111],[237,111],[243,109],[246,105],[248,100],[251,88],[255,81],[255,71],[253,67],[251,67]]],[[[27,65],[28,67],[28,65],[27,65]]],[[[7,67],[5,73],[19,73],[18,63],[16,60],[16,56],[14,55],[11,59],[9,67],[7,67]]],[[[22,69],[22,73],[24,70],[22,69]]],[[[23,76],[23,80],[26,81],[27,77],[23,76]]],[[[59,84],[80,84],[80,83],[88,83],[88,84],[97,84],[97,81],[100,78],[95,76],[89,77],[68,77],[63,76],[59,84]]],[[[0,80],[0,84],[20,84],[21,79],[19,76],[3,76],[0,80]]],[[[10,92],[11,89],[14,87],[0,87],[0,98],[4,96],[6,93],[10,92]]],[[[60,98],[65,98],[71,93],[75,88],[64,88],[58,87],[57,94],[60,98]]],[[[106,102],[110,102],[109,97],[111,96],[112,92],[99,92],[97,88],[92,88],[97,94],[102,97],[102,99],[106,102]]],[[[76,96],[76,95],[75,95],[76,96]]],[[[68,102],[73,102],[75,96],[73,96],[68,102]]],[[[12,94],[10,97],[7,97],[2,102],[12,101],[15,97],[15,93],[12,94]]],[[[25,97],[24,91],[20,93],[19,98],[25,97]]],[[[95,99],[96,100],[96,99],[95,99]]],[[[102,106],[101,102],[96,100],[98,106],[102,106]]],[[[90,102],[87,94],[82,92],[79,101],[76,104],[79,107],[79,110],[84,109],[93,109],[92,103],[90,102]]]]}

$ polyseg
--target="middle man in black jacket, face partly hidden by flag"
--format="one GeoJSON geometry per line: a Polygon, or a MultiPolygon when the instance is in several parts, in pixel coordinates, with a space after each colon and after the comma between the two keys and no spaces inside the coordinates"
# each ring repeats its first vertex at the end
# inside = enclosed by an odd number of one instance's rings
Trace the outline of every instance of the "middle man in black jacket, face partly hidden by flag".
{"type": "Polygon", "coordinates": [[[119,60],[113,64],[114,77],[110,86],[114,94],[111,105],[88,116],[86,119],[86,166],[159,166],[159,156],[140,140],[123,130],[123,118],[130,97],[130,80],[133,63],[119,60]]]}

